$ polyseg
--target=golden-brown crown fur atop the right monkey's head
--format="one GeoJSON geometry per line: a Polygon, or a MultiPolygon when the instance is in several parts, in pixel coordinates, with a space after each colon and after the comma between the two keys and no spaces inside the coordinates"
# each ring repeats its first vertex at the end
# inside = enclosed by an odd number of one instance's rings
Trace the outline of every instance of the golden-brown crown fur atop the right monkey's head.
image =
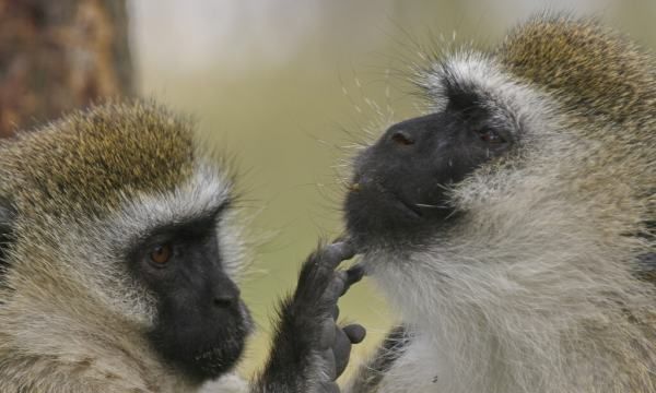
{"type": "Polygon", "coordinates": [[[495,56],[513,76],[542,87],[583,121],[635,124],[645,135],[655,121],[652,56],[594,19],[535,17],[511,32],[495,56]]]}

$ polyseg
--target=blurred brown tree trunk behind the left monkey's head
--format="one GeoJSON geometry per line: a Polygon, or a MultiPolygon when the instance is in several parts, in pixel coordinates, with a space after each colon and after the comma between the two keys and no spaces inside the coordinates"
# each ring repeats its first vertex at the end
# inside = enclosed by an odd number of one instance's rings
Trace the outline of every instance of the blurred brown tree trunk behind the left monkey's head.
{"type": "Polygon", "coordinates": [[[125,0],[0,0],[0,136],[132,93],[125,0]]]}

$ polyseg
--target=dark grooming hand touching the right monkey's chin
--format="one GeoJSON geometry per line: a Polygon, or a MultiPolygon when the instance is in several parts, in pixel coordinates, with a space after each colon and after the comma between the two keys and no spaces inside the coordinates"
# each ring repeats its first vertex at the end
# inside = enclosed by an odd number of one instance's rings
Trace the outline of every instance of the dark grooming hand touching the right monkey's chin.
{"type": "Polygon", "coordinates": [[[348,242],[315,251],[303,264],[294,295],[283,301],[271,356],[257,383],[266,393],[339,393],[335,380],[344,371],[351,345],[364,340],[363,326],[337,325],[337,301],[359,282],[359,266],[336,271],[354,255],[348,242]]]}

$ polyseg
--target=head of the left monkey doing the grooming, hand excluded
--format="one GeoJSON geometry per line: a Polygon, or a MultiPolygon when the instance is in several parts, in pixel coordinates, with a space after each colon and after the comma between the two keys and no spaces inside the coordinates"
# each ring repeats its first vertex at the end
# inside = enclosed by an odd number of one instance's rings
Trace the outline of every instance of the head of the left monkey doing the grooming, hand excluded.
{"type": "MultiPolygon", "coordinates": [[[[231,176],[186,119],[106,104],[0,148],[2,321],[50,343],[154,350],[190,380],[235,365],[250,319],[231,176]]],[[[31,340],[43,342],[16,350],[31,340]]],[[[67,359],[66,347],[42,349],[67,359]]]]}

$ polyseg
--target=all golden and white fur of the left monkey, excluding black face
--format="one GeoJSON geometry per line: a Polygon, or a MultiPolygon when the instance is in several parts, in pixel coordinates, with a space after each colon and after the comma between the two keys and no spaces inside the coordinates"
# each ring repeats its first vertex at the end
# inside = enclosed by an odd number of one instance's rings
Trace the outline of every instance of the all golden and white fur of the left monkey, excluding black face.
{"type": "Polygon", "coordinates": [[[197,391],[151,348],[153,299],[120,261],[157,219],[230,198],[223,170],[197,157],[186,119],[152,103],[104,104],[2,141],[0,196],[14,211],[2,217],[0,392],[197,391]]]}

